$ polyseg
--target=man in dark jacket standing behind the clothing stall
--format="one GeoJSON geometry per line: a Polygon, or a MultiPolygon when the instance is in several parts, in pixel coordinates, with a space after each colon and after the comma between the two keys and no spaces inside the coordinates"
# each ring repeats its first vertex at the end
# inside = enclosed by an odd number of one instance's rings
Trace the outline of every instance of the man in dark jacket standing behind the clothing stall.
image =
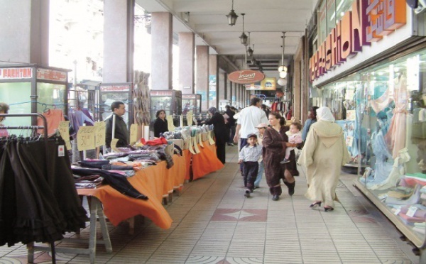
{"type": "Polygon", "coordinates": [[[126,147],[129,145],[129,130],[127,129],[126,122],[124,122],[123,115],[126,114],[126,106],[122,101],[114,101],[111,104],[111,111],[113,112],[108,119],[105,120],[107,131],[105,135],[105,141],[107,148],[111,148],[112,141],[112,121],[115,116],[115,131],[114,138],[117,138],[119,142],[117,142],[116,147],[126,147]]]}

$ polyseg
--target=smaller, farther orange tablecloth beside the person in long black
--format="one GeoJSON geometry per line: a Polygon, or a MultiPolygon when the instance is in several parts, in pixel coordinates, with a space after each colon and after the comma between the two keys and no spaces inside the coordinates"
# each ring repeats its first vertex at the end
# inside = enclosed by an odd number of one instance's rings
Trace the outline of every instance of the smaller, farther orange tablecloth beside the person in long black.
{"type": "Polygon", "coordinates": [[[204,141],[203,145],[204,148],[198,144],[200,153],[192,155],[192,180],[197,180],[224,167],[217,158],[216,145],[210,145],[209,141],[204,141]]]}

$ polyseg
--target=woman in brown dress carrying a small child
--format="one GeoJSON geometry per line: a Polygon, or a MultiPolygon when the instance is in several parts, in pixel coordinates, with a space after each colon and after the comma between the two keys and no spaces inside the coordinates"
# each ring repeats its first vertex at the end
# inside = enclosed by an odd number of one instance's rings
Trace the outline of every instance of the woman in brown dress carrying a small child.
{"type": "Polygon", "coordinates": [[[273,195],[273,201],[280,199],[283,192],[280,185],[280,179],[288,187],[288,194],[291,196],[295,193],[295,178],[298,176],[296,165],[296,155],[293,150],[290,153],[290,163],[280,164],[285,155],[285,148],[297,147],[297,144],[289,143],[288,126],[285,126],[285,119],[279,113],[269,114],[269,123],[272,127],[266,129],[263,133],[263,163],[265,165],[266,183],[268,183],[269,191],[273,195]]]}

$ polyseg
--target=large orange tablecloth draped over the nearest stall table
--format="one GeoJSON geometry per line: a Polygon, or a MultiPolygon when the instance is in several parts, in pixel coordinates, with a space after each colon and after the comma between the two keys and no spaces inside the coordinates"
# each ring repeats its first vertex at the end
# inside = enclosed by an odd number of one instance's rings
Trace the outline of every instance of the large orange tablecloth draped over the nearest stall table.
{"type": "Polygon", "coordinates": [[[79,195],[97,197],[102,202],[104,214],[114,226],[141,214],[160,228],[168,229],[173,220],[161,204],[163,195],[168,194],[170,188],[173,192],[174,185],[183,184],[185,177],[185,158],[173,155],[173,162],[175,165],[170,170],[163,161],[158,165],[146,167],[128,178],[133,187],[148,196],[148,200],[128,197],[109,185],[97,189],[77,189],[77,192],[79,195]]]}

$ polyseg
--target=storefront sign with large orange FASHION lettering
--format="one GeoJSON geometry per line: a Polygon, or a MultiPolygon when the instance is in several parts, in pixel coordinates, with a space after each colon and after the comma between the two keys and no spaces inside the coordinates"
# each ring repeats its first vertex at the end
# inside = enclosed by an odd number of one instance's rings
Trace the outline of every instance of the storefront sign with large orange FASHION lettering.
{"type": "Polygon", "coordinates": [[[343,64],[363,46],[393,33],[406,21],[403,0],[354,0],[352,11],[344,14],[310,58],[310,81],[343,64]]]}

